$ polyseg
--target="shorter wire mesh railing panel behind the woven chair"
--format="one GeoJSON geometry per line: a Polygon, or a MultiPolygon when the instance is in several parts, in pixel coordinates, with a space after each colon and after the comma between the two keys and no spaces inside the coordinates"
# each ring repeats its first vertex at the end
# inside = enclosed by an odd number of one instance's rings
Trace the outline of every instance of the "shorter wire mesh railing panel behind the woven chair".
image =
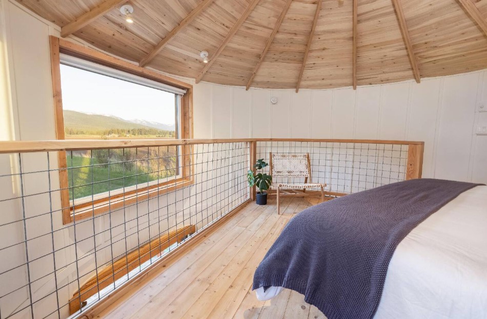
{"type": "MultiPolygon", "coordinates": [[[[333,193],[351,194],[406,179],[408,144],[337,141],[258,141],[257,158],[269,162],[269,153],[310,155],[311,180],[327,184],[333,193]]],[[[264,172],[268,172],[267,167],[264,172]]],[[[302,178],[274,183],[302,183],[302,178]]]]}

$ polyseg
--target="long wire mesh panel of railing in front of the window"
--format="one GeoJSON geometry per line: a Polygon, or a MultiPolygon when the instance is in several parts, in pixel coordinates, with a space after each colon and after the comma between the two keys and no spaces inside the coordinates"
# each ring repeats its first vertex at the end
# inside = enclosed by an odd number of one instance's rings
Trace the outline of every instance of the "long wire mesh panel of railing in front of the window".
{"type": "Polygon", "coordinates": [[[0,155],[2,319],[80,313],[248,200],[248,142],[168,148],[0,155]]]}

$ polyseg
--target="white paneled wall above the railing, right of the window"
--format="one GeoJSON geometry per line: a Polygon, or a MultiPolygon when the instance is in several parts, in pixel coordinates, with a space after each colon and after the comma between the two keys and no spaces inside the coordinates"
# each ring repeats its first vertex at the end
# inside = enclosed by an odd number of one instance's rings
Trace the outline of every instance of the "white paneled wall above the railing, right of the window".
{"type": "Polygon", "coordinates": [[[487,183],[487,71],[334,90],[200,83],[196,138],[355,138],[425,142],[423,177],[487,183]],[[271,97],[277,97],[273,105],[271,97]]]}

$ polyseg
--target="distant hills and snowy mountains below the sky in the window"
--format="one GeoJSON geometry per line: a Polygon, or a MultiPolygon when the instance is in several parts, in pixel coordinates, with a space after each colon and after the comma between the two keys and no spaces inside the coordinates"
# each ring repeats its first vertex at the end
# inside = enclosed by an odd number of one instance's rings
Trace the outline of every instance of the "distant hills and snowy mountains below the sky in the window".
{"type": "MultiPolygon", "coordinates": [[[[104,131],[110,129],[131,130],[131,129],[154,129],[174,131],[174,129],[159,129],[155,126],[149,126],[124,119],[98,114],[86,114],[76,111],[64,110],[64,126],[75,131],[104,131]]],[[[164,124],[163,124],[164,125],[164,124]]]]}

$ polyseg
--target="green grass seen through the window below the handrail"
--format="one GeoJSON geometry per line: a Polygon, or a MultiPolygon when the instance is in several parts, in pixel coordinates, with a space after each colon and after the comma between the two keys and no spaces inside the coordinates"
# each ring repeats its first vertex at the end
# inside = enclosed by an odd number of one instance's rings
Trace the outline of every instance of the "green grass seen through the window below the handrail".
{"type": "Polygon", "coordinates": [[[144,184],[158,178],[157,174],[148,173],[150,169],[137,168],[137,165],[133,165],[132,169],[124,168],[123,163],[97,165],[99,163],[96,158],[83,156],[69,156],[67,161],[70,199],[91,197],[93,194],[144,184]]]}

